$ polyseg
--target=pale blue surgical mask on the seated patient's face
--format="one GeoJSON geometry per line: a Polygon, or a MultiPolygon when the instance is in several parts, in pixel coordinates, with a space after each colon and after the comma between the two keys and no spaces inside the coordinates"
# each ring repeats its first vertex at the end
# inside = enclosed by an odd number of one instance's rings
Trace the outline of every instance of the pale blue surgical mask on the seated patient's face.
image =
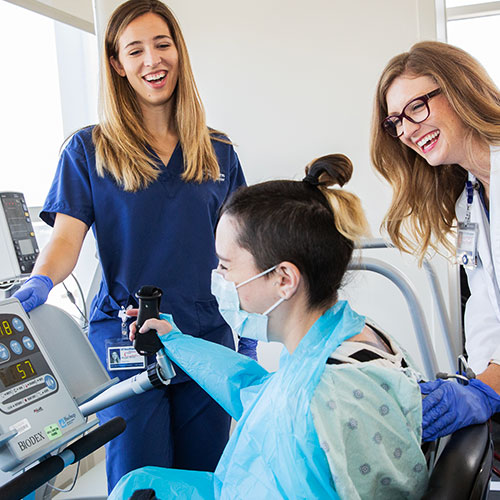
{"type": "Polygon", "coordinates": [[[241,309],[237,289],[274,271],[276,267],[270,267],[266,271],[240,283],[238,286],[232,281],[227,281],[216,269],[212,271],[212,294],[217,299],[221,316],[240,337],[269,342],[267,331],[268,314],[274,311],[285,299],[279,299],[262,314],[249,313],[241,309]]]}

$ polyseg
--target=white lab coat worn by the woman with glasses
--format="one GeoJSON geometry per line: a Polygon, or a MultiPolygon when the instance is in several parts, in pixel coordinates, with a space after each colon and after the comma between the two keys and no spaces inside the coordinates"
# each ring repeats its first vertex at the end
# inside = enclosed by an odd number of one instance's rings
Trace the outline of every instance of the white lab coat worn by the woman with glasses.
{"type": "MultiPolygon", "coordinates": [[[[471,296],[465,309],[465,348],[476,373],[484,371],[492,359],[500,359],[500,148],[490,147],[490,221],[481,198],[474,190],[471,222],[479,225],[478,265],[467,271],[471,296]]],[[[469,180],[476,181],[472,174],[469,180]]],[[[463,221],[467,194],[456,204],[458,221],[463,221]]]]}

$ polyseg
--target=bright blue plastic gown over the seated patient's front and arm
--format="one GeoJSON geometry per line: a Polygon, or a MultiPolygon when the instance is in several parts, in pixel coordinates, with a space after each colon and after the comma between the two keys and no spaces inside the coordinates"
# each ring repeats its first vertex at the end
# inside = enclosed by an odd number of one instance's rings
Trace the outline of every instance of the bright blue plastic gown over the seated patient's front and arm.
{"type": "MultiPolygon", "coordinates": [[[[128,499],[144,488],[153,488],[161,500],[339,498],[310,404],[329,355],[363,326],[363,317],[338,302],[315,322],[292,355],[282,357],[275,373],[178,329],[160,337],[168,356],[238,425],[215,473],[145,467],[124,476],[109,498],[128,499]]],[[[419,430],[408,434],[418,448],[419,430]]]]}

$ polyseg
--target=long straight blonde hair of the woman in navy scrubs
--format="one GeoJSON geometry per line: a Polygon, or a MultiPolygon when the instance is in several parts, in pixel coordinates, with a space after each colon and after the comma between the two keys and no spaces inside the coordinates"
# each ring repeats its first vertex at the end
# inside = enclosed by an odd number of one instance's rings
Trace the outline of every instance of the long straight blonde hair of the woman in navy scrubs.
{"type": "Polygon", "coordinates": [[[129,0],[113,12],[108,22],[101,68],[100,123],[92,135],[97,172],[101,176],[109,173],[125,191],[132,192],[147,187],[159,175],[159,169],[148,153],[152,138],[144,127],[135,92],[110,63],[111,57],[118,59],[118,42],[125,28],[149,12],[167,23],[179,55],[179,77],[172,99],[174,126],[184,157],[182,179],[198,183],[217,180],[220,172],[211,137],[228,141],[218,136],[220,132],[209,130],[206,125],[181,29],[173,13],[158,0],[129,0]]]}

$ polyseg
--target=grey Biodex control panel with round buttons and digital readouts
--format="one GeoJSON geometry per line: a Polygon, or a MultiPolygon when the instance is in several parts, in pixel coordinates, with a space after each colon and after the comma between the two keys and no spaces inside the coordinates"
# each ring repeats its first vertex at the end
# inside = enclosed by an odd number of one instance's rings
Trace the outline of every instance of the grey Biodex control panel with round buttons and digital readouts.
{"type": "Polygon", "coordinates": [[[86,425],[19,301],[0,302],[0,469],[49,453],[86,425]]]}

